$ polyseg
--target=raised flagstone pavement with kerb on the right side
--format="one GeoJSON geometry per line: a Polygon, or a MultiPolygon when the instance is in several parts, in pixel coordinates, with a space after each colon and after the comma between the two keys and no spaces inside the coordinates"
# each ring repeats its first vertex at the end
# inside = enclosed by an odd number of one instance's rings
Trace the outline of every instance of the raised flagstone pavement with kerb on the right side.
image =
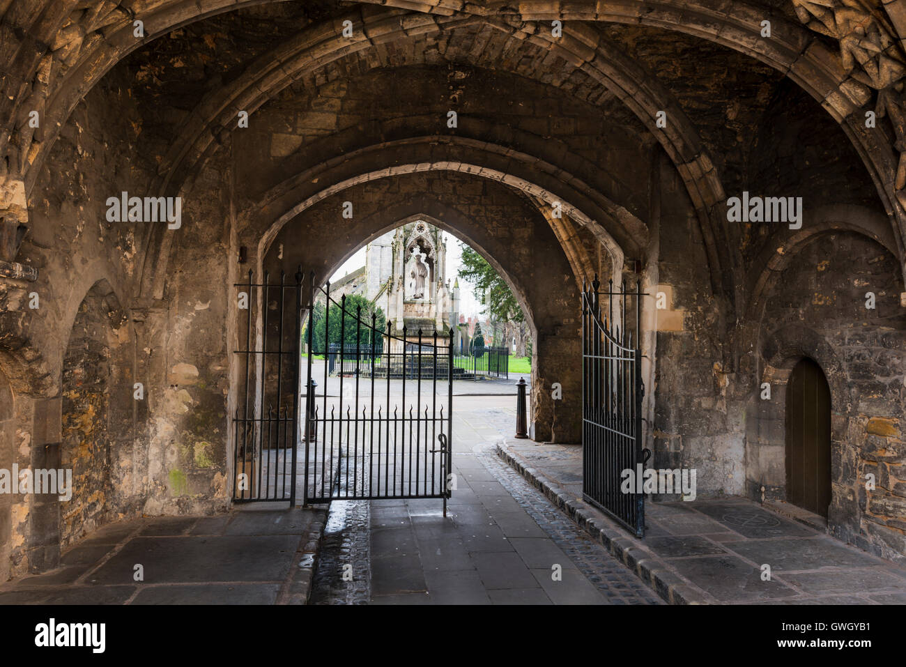
{"type": "Polygon", "coordinates": [[[498,455],[671,604],[904,604],[906,568],[747,498],[646,501],[646,536],[586,503],[582,449],[507,441],[498,455]],[[770,579],[763,577],[769,565],[770,579]]]}

